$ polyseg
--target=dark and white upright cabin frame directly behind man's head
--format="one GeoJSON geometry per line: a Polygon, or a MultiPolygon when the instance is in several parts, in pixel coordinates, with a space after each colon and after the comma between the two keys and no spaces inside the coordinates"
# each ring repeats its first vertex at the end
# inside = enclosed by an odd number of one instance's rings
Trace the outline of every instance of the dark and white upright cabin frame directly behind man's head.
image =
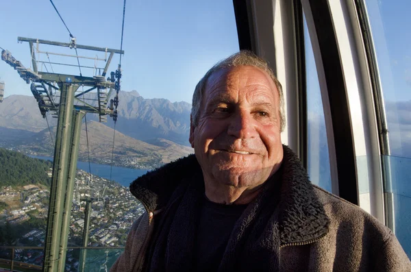
{"type": "Polygon", "coordinates": [[[287,123],[282,142],[299,153],[295,23],[292,1],[251,1],[256,54],[267,60],[284,90],[287,123]]]}

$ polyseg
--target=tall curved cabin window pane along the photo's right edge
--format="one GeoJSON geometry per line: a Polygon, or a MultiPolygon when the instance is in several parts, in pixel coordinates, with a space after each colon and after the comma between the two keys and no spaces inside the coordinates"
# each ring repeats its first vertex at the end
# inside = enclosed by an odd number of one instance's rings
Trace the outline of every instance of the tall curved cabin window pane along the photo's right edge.
{"type": "Polygon", "coordinates": [[[382,154],[386,225],[411,256],[411,25],[407,0],[365,0],[384,97],[388,147],[382,154]]]}

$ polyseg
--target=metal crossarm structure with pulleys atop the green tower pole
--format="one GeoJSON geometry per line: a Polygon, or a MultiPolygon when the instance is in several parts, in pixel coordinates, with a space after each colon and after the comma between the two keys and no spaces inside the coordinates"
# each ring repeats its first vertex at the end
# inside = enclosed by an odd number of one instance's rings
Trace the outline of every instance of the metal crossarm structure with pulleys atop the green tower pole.
{"type": "MultiPolygon", "coordinates": [[[[89,87],[88,90],[77,92],[75,94],[75,101],[77,104],[75,105],[76,110],[84,110],[85,112],[91,112],[99,114],[99,118],[101,122],[106,121],[106,116],[109,114],[113,116],[114,121],[116,121],[117,114],[116,109],[114,107],[118,106],[118,92],[120,90],[120,79],[121,79],[121,69],[117,69],[116,72],[112,72],[110,77],[105,79],[105,75],[108,71],[108,67],[110,66],[110,62],[114,53],[124,53],[123,51],[117,49],[109,49],[109,48],[102,48],[102,47],[90,47],[86,45],[75,45],[75,43],[67,43],[67,42],[53,42],[49,40],[39,40],[34,38],[22,38],[18,37],[18,41],[20,42],[29,42],[30,53],[32,55],[32,69],[26,68],[23,64],[16,60],[10,53],[10,51],[3,50],[1,52],[1,59],[4,60],[6,63],[10,64],[20,77],[27,83],[32,83],[31,90],[34,95],[34,98],[38,101],[38,107],[43,117],[45,117],[48,111],[51,112],[58,112],[58,108],[60,103],[55,102],[55,97],[53,97],[53,91],[59,91],[60,88],[56,87],[54,84],[57,83],[62,84],[73,84],[78,86],[86,86],[89,87]],[[40,51],[40,45],[54,45],[60,47],[69,47],[73,48],[76,47],[77,49],[85,49],[90,51],[99,51],[105,53],[105,58],[91,58],[86,56],[77,56],[77,55],[69,55],[69,54],[62,54],[62,53],[52,53],[48,51],[40,51]],[[103,60],[105,61],[105,66],[103,68],[92,67],[92,66],[79,66],[86,69],[99,69],[102,71],[101,75],[95,75],[93,77],[84,77],[82,75],[66,75],[61,73],[49,73],[49,72],[42,72],[38,71],[38,64],[55,64],[60,66],[73,66],[73,64],[64,64],[60,62],[43,62],[37,60],[36,55],[45,54],[49,58],[49,55],[60,55],[63,57],[71,57],[71,58],[85,58],[85,59],[96,59],[96,60],[103,60]],[[97,105],[91,105],[87,103],[82,96],[86,93],[91,92],[92,90],[97,89],[97,95],[94,101],[97,101],[97,105]],[[108,97],[110,97],[113,90],[116,90],[116,96],[112,99],[110,103],[110,107],[107,108],[108,105],[108,97]]],[[[77,65],[75,65],[77,66],[77,65]]]]}

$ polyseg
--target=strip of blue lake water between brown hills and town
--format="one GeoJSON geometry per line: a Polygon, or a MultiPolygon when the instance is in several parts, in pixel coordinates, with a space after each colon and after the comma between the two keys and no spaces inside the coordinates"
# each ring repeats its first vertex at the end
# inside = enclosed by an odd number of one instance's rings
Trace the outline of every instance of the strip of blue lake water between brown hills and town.
{"type": "MultiPolygon", "coordinates": [[[[45,156],[30,156],[32,158],[37,158],[41,160],[51,160],[51,157],[45,156]]],[[[88,172],[88,162],[77,162],[77,169],[82,169],[83,171],[88,172]]],[[[92,175],[98,175],[99,177],[103,177],[107,180],[110,180],[110,165],[107,164],[97,164],[97,163],[90,163],[90,169],[92,175]]],[[[130,183],[136,180],[137,177],[140,177],[147,173],[147,169],[132,169],[132,168],[125,168],[119,166],[113,166],[112,168],[112,180],[118,182],[119,184],[129,187],[130,183]]]]}

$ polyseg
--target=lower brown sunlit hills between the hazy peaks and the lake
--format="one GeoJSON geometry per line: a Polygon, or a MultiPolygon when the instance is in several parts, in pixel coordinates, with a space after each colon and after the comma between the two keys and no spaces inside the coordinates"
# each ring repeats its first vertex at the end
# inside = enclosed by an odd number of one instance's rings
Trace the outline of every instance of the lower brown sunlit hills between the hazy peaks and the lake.
{"type": "MultiPolygon", "coordinates": [[[[95,121],[88,121],[86,133],[86,124],[83,123],[79,143],[79,160],[87,161],[89,150],[92,162],[110,164],[113,134],[113,129],[95,121]]],[[[51,135],[55,140],[55,127],[52,129],[51,135]]],[[[23,151],[35,152],[37,155],[53,156],[54,145],[51,135],[49,129],[44,129],[27,140],[18,140],[18,147],[23,151]]],[[[152,142],[158,144],[152,145],[116,132],[113,164],[152,169],[192,153],[190,147],[177,145],[169,140],[158,138],[153,139],[152,142]]]]}

